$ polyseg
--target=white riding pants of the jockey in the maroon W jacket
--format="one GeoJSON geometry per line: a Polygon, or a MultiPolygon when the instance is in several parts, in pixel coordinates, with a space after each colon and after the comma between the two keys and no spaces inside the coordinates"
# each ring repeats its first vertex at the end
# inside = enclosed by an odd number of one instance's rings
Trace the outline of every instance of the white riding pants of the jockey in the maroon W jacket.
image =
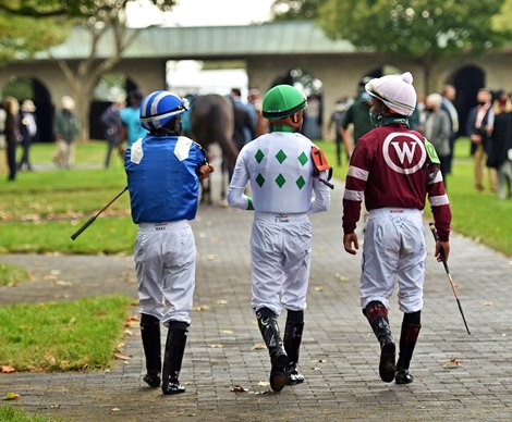
{"type": "Polygon", "coordinates": [[[389,308],[398,282],[402,312],[423,308],[427,248],[423,213],[414,209],[369,211],[363,246],[361,306],[376,300],[389,308]]]}

